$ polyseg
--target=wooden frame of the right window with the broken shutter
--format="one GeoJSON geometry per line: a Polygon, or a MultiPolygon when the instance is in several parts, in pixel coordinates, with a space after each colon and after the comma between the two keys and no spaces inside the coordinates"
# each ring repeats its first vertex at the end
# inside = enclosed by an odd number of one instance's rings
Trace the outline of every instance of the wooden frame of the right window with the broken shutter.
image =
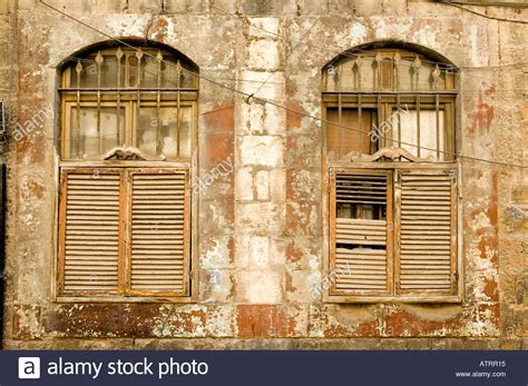
{"type": "MultiPolygon", "coordinates": [[[[381,51],[387,55],[388,51],[399,50],[398,48],[382,48],[381,51]]],[[[378,49],[372,49],[371,52],[375,52],[378,49]]],[[[354,53],[353,50],[350,52],[354,53]]],[[[333,67],[333,71],[340,73],[340,61],[334,60],[330,65],[333,67]],[[338,68],[335,68],[338,67],[338,68]]],[[[452,65],[446,65],[446,69],[453,70],[452,65]]],[[[334,73],[335,73],[334,72],[334,73]]],[[[361,89],[345,89],[339,90],[335,87],[329,88],[329,70],[323,68],[322,75],[322,188],[323,188],[323,267],[322,267],[322,300],[325,303],[410,303],[410,304],[459,304],[463,301],[463,287],[465,287],[465,275],[463,275],[463,264],[462,264],[462,205],[461,205],[461,162],[460,159],[456,156],[446,157],[440,160],[426,160],[418,159],[415,161],[387,161],[378,160],[375,162],[365,162],[361,160],[352,161],[351,159],[345,160],[340,157],[331,157],[329,155],[327,148],[327,109],[335,108],[339,109],[340,106],[342,109],[359,109],[361,107],[369,109],[377,109],[378,115],[378,127],[381,122],[387,121],[390,115],[398,107],[404,107],[408,105],[409,110],[417,105],[419,100],[420,110],[422,109],[432,109],[436,110],[437,106],[440,106],[440,109],[443,109],[444,112],[444,149],[443,151],[450,154],[457,154],[457,149],[460,148],[460,138],[459,138],[459,119],[458,119],[458,108],[459,108],[459,92],[454,85],[454,77],[452,72],[449,72],[449,77],[446,77],[446,90],[402,90],[397,91],[394,88],[391,90],[375,88],[369,90],[361,89]],[[382,101],[380,103],[380,100],[382,101]],[[381,108],[380,108],[381,106],[381,108]],[[429,107],[429,108],[428,108],[429,107]],[[454,283],[454,293],[453,295],[434,295],[434,294],[413,294],[409,291],[408,294],[394,295],[394,296],[378,296],[378,295],[358,295],[358,294],[348,294],[348,295],[333,295],[331,287],[333,284],[332,276],[335,275],[335,271],[331,269],[331,250],[335,247],[335,243],[332,243],[331,239],[331,227],[335,227],[335,224],[332,225],[331,212],[333,209],[331,206],[332,199],[330,197],[332,191],[332,180],[331,174],[333,169],[358,169],[366,170],[372,172],[374,170],[441,170],[441,169],[452,169],[457,171],[457,182],[456,182],[456,196],[453,200],[456,202],[456,218],[453,224],[456,225],[456,235],[454,235],[454,247],[452,253],[456,254],[456,257],[452,258],[452,264],[456,266],[456,283],[454,283]]],[[[393,86],[393,85],[392,85],[393,86]]],[[[362,130],[364,130],[362,128],[362,130]]],[[[366,131],[366,130],[365,130],[366,131]]],[[[371,130],[369,130],[371,131],[371,130]]],[[[390,133],[388,132],[388,136],[390,133]]],[[[387,143],[393,142],[392,140],[387,140],[387,143]]],[[[390,145],[383,146],[379,143],[378,149],[391,147],[390,145]]],[[[394,146],[397,147],[397,146],[394,146]]],[[[394,232],[394,241],[400,237],[400,234],[394,232]]],[[[398,251],[393,256],[393,266],[394,271],[397,264],[398,251]]],[[[389,261],[388,261],[389,263],[389,261]]],[[[395,288],[394,288],[395,289],[395,288]]],[[[394,291],[395,294],[395,291],[394,291]]]]}

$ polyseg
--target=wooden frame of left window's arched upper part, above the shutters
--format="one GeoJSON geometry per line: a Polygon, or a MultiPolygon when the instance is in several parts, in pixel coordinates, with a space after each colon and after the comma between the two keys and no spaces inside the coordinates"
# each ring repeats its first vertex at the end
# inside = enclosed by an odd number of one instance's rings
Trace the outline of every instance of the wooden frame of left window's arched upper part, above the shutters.
{"type": "MultiPolygon", "coordinates": [[[[120,138],[124,138],[125,143],[118,143],[118,146],[126,145],[128,147],[136,147],[136,136],[135,131],[137,128],[137,119],[139,117],[139,109],[141,107],[157,107],[156,117],[159,119],[159,109],[166,106],[176,107],[178,112],[177,116],[180,118],[182,108],[190,107],[193,109],[190,127],[195,128],[197,126],[197,100],[198,100],[198,87],[199,78],[197,77],[197,69],[194,68],[188,60],[176,56],[175,53],[167,52],[166,50],[155,49],[155,48],[141,48],[139,50],[133,50],[127,47],[119,48],[106,48],[99,51],[92,51],[86,58],[88,60],[94,60],[91,65],[95,66],[97,73],[97,86],[96,87],[84,87],[80,83],[80,73],[81,71],[87,71],[87,65],[81,62],[81,60],[74,61],[68,67],[62,70],[60,87],[58,89],[60,99],[61,99],[61,115],[60,115],[60,154],[61,158],[65,160],[74,160],[79,158],[71,157],[70,141],[69,138],[72,132],[70,127],[69,115],[71,106],[75,105],[76,108],[81,109],[82,107],[96,107],[97,108],[97,127],[99,129],[100,125],[100,111],[101,107],[119,107],[125,108],[125,132],[119,135],[120,138]],[[121,57],[117,60],[116,65],[118,66],[118,71],[116,72],[117,78],[120,79],[119,73],[124,77],[124,85],[119,85],[120,80],[116,81],[116,85],[111,87],[105,87],[106,85],[101,83],[101,63],[105,57],[117,58],[116,55],[120,52],[121,57]],[[163,55],[162,55],[163,52],[163,55]],[[97,53],[97,55],[96,55],[97,53]],[[129,85],[129,71],[130,67],[128,61],[130,58],[137,59],[137,55],[141,57],[143,62],[148,58],[151,60],[151,57],[156,59],[165,58],[169,59],[175,66],[174,72],[176,73],[176,85],[170,85],[170,87],[164,87],[162,85],[162,66],[156,70],[156,73],[151,73],[157,77],[157,87],[144,87],[140,82],[137,85],[129,85]],[[98,61],[99,59],[99,61],[98,61]],[[176,63],[174,63],[176,61],[176,63]],[[77,65],[76,65],[77,63],[77,65]],[[76,67],[79,67],[79,72],[77,72],[76,67]],[[119,72],[120,70],[120,72],[119,72]],[[178,77],[178,73],[184,71],[193,72],[190,79],[190,85],[182,83],[182,78],[178,77]],[[77,72],[77,75],[76,75],[77,72]],[[77,78],[72,79],[72,75],[77,78]]],[[[134,69],[135,71],[136,69],[134,69]]],[[[138,75],[140,71],[138,70],[138,75]]],[[[141,72],[143,73],[143,72],[141,72]]],[[[144,75],[144,73],[143,73],[144,75]]],[[[80,127],[78,128],[80,129],[80,127]]],[[[159,126],[158,126],[159,129],[159,126]]],[[[178,123],[179,130],[179,123],[178,123]]],[[[159,137],[158,137],[159,141],[159,137]]],[[[158,142],[159,146],[159,142],[158,142]]],[[[172,161],[187,161],[188,157],[179,155],[179,131],[177,138],[177,149],[178,155],[176,158],[172,158],[172,161]]],[[[195,148],[194,135],[192,136],[192,146],[190,151],[195,148]]],[[[90,157],[90,160],[97,160],[97,156],[90,157]]]]}

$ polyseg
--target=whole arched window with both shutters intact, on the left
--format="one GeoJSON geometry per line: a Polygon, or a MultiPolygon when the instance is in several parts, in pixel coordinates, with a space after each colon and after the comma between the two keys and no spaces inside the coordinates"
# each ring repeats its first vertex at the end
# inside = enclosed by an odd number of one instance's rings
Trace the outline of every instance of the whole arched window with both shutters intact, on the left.
{"type": "Polygon", "coordinates": [[[61,71],[59,297],[190,295],[196,66],[89,49],[61,71]]]}

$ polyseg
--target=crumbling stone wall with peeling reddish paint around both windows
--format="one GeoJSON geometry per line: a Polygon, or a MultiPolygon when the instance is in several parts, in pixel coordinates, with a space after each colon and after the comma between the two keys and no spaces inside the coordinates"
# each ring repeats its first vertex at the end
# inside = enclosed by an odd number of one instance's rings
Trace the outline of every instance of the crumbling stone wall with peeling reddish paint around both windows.
{"type": "MultiPolygon", "coordinates": [[[[7,154],[6,347],[528,348],[527,172],[462,161],[462,303],[324,303],[323,139],[307,117],[321,115],[321,69],[340,52],[407,41],[462,69],[461,152],[526,165],[524,24],[430,1],[167,0],[165,10],[155,0],[46,2],[107,34],[162,41],[194,60],[204,77],[197,175],[228,159],[234,168],[196,198],[196,303],[53,301],[57,66],[107,38],[35,0],[2,9],[2,26],[17,30],[10,38],[0,30],[18,47],[17,122],[56,111],[11,139],[7,154]]],[[[527,10],[486,10],[528,20],[527,10]]]]}

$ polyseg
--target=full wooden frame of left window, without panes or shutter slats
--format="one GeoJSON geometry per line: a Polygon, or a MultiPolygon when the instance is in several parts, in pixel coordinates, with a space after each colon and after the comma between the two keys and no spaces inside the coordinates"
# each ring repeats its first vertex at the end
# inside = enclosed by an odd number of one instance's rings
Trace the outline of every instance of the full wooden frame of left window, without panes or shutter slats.
{"type": "MultiPolygon", "coordinates": [[[[170,76],[170,79],[175,80],[175,86],[167,82],[167,78],[164,78],[164,83],[162,87],[143,87],[143,85],[128,85],[129,77],[127,76],[128,66],[125,66],[127,57],[135,56],[136,50],[128,50],[125,47],[121,48],[101,48],[100,52],[104,56],[115,56],[119,49],[124,50],[123,58],[120,59],[120,76],[121,83],[110,85],[110,87],[105,87],[105,83],[97,81],[99,87],[82,87],[77,88],[76,80],[72,79],[72,73],[76,72],[76,63],[79,66],[81,63],[86,69],[86,61],[74,61],[68,63],[61,71],[60,86],[58,88],[58,93],[60,97],[60,136],[59,136],[59,150],[60,150],[60,160],[58,165],[58,186],[59,186],[59,206],[62,205],[60,192],[62,191],[63,178],[62,174],[68,169],[116,169],[124,170],[123,172],[129,174],[133,170],[140,170],[141,172],[148,172],[154,169],[185,169],[187,175],[187,190],[186,190],[186,210],[187,210],[187,221],[186,226],[186,245],[188,253],[185,255],[188,263],[188,269],[186,270],[188,276],[188,286],[186,294],[175,295],[172,293],[156,293],[148,294],[141,291],[128,291],[124,294],[123,290],[120,294],[115,295],[104,295],[104,296],[77,296],[71,294],[61,294],[60,293],[60,264],[61,264],[61,244],[60,237],[61,230],[60,226],[63,219],[60,218],[59,214],[62,211],[57,210],[57,222],[58,227],[56,228],[56,241],[57,241],[57,258],[55,259],[55,269],[53,269],[53,298],[58,303],[195,303],[197,301],[197,290],[198,290],[198,269],[197,257],[195,256],[195,250],[197,246],[197,218],[193,214],[196,212],[198,208],[198,198],[193,197],[190,181],[194,180],[195,170],[197,170],[198,165],[198,89],[199,89],[199,77],[198,68],[193,65],[188,59],[184,58],[179,53],[172,52],[170,50],[164,50],[163,48],[143,48],[144,59],[145,55],[157,56],[163,52],[163,58],[173,61],[175,65],[175,71],[182,69],[182,71],[190,71],[195,76],[192,76],[190,82],[187,81],[180,83],[180,78],[170,76]],[[179,62],[182,61],[182,63],[179,62]],[[167,86],[164,86],[167,85],[167,86]],[[135,127],[137,125],[138,116],[138,103],[140,107],[176,107],[178,108],[178,117],[180,117],[180,108],[192,108],[192,120],[190,120],[190,156],[189,157],[179,157],[176,159],[160,160],[160,157],[143,157],[135,160],[124,160],[119,157],[113,157],[111,160],[104,160],[100,158],[90,158],[90,159],[76,159],[69,157],[69,149],[67,140],[67,135],[70,131],[69,119],[67,119],[67,106],[80,103],[80,106],[91,106],[91,107],[117,107],[125,109],[125,133],[127,136],[128,143],[125,143],[127,147],[134,148],[137,145],[135,127]]],[[[95,59],[94,66],[97,66],[97,50],[88,53],[87,57],[90,60],[95,59]]],[[[99,71],[99,70],[98,70],[99,71]]],[[[158,75],[159,77],[159,75],[158,75]]],[[[151,79],[150,79],[151,80],[151,79]]],[[[158,78],[158,85],[159,78],[158,78]]],[[[69,118],[69,117],[68,117],[69,118]]],[[[99,125],[98,118],[98,125],[99,125]]],[[[120,146],[123,143],[119,143],[120,146]]],[[[138,150],[138,149],[137,149],[138,150]]],[[[124,184],[126,186],[127,184],[124,184]]],[[[125,253],[125,251],[124,251],[125,253]]],[[[121,256],[121,255],[120,255],[121,256]]],[[[62,257],[63,261],[63,257],[62,257]]],[[[120,283],[125,283],[125,279],[120,279],[120,283]]]]}

